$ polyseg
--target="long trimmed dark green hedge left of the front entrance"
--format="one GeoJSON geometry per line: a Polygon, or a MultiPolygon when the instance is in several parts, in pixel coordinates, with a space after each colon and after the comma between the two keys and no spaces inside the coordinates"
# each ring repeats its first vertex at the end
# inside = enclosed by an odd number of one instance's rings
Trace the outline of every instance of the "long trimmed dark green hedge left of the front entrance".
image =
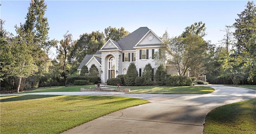
{"type": "Polygon", "coordinates": [[[87,80],[90,83],[100,83],[100,77],[98,76],[69,76],[66,78],[66,84],[74,84],[76,80],[87,80]]]}

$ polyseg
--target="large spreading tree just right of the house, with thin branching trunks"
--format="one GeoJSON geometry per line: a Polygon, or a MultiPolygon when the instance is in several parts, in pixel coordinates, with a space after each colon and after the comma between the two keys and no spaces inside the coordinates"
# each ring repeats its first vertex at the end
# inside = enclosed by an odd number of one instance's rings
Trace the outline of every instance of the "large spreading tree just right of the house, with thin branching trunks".
{"type": "MultiPolygon", "coordinates": [[[[189,70],[197,71],[195,74],[202,75],[202,69],[205,66],[208,53],[213,49],[213,45],[204,41],[205,24],[202,22],[194,23],[186,27],[180,36],[166,37],[164,34],[164,48],[167,56],[163,57],[168,64],[174,65],[179,75],[186,75],[189,70]]],[[[205,73],[205,72],[203,72],[205,73]]]]}

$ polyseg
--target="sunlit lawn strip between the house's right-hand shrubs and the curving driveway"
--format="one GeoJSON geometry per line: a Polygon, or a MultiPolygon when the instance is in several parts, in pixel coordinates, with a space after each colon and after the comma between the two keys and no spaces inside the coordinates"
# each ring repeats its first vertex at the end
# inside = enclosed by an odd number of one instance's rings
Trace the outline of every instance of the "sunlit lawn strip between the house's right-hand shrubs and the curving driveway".
{"type": "Polygon", "coordinates": [[[213,88],[204,86],[164,87],[164,86],[142,86],[127,87],[129,93],[152,93],[152,94],[207,94],[214,91],[213,88]]]}

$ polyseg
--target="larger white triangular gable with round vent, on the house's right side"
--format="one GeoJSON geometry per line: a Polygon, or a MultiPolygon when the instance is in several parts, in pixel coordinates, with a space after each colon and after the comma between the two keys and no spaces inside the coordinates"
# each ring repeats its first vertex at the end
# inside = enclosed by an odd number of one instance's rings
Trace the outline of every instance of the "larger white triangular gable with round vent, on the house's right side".
{"type": "Polygon", "coordinates": [[[161,43],[161,41],[156,37],[152,32],[149,32],[142,41],[138,43],[137,46],[140,45],[146,45],[146,44],[158,44],[161,43]]]}

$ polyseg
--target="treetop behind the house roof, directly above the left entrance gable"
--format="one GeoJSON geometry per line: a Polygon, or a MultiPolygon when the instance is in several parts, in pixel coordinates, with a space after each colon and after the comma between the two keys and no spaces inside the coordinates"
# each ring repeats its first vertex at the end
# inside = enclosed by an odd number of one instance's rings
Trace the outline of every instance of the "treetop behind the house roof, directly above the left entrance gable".
{"type": "Polygon", "coordinates": [[[105,31],[106,41],[108,39],[119,41],[120,39],[124,38],[129,34],[129,32],[125,31],[123,27],[116,29],[109,26],[108,28],[105,28],[104,31],[105,31]]]}

